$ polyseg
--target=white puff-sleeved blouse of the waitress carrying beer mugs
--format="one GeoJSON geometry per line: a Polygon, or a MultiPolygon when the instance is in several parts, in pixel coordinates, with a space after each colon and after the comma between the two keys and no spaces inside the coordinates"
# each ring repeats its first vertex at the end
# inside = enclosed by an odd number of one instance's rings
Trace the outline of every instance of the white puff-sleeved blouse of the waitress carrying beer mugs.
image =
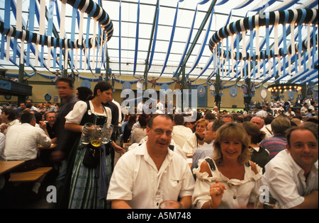
{"type": "MultiPolygon", "coordinates": [[[[91,113],[94,115],[101,115],[101,116],[105,116],[108,118],[107,123],[111,124],[111,120],[112,120],[112,112],[111,112],[111,108],[108,107],[104,107],[106,110],[106,113],[96,113],[94,111],[94,106],[92,104],[91,101],[89,101],[90,103],[90,110],[91,113]]],[[[71,110],[69,112],[69,114],[67,114],[65,116],[65,123],[74,123],[79,125],[81,123],[81,120],[84,116],[84,113],[86,113],[86,108],[87,108],[87,104],[85,101],[77,101],[77,103],[74,104],[73,110],[71,110]]]]}

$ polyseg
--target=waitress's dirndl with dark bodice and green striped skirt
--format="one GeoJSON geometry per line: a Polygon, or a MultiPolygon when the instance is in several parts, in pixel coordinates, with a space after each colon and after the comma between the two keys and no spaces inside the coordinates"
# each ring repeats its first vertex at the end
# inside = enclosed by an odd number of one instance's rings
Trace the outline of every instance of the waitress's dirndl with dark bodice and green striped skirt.
{"type": "MultiPolygon", "coordinates": [[[[90,109],[87,102],[87,110],[84,114],[80,125],[86,122],[94,123],[94,114],[88,113],[90,109]]],[[[96,125],[103,125],[107,117],[99,116],[96,125]]],[[[108,185],[111,180],[111,142],[102,144],[101,158],[96,168],[88,168],[84,166],[83,159],[86,152],[86,146],[78,139],[72,148],[74,156],[72,178],[69,189],[69,205],[70,209],[104,209],[111,208],[111,202],[106,201],[108,193],[108,185]]]]}

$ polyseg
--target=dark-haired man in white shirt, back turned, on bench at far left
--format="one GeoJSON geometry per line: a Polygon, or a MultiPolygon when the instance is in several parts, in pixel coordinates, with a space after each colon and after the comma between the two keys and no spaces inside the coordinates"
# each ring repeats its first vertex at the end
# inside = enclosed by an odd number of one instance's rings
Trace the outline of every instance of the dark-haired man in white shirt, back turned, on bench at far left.
{"type": "MultiPolygon", "coordinates": [[[[13,125],[6,132],[6,147],[4,155],[8,161],[26,161],[22,166],[15,168],[15,172],[31,171],[35,168],[45,166],[38,159],[38,144],[50,147],[51,139],[47,134],[45,122],[40,121],[39,127],[35,127],[35,116],[30,112],[21,115],[21,125],[13,125]]],[[[33,193],[38,194],[38,189],[45,176],[33,185],[33,193]]]]}

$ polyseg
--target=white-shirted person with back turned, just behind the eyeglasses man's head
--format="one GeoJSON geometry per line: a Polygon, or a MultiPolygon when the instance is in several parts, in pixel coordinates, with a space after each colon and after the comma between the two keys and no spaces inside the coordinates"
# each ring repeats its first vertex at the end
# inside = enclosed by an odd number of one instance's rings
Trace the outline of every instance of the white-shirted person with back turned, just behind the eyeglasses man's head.
{"type": "Polygon", "coordinates": [[[183,148],[186,138],[189,135],[192,135],[193,131],[189,127],[184,126],[184,117],[183,115],[174,116],[174,127],[173,127],[173,136],[172,139],[179,147],[183,148]]]}

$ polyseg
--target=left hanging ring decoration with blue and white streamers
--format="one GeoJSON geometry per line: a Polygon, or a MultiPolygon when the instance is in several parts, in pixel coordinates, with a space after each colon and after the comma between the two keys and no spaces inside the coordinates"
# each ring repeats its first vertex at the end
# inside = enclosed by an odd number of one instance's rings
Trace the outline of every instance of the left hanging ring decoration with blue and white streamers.
{"type": "MultiPolygon", "coordinates": [[[[68,59],[67,57],[70,58],[71,60],[71,69],[74,68],[74,64],[73,64],[73,52],[72,49],[82,49],[82,45],[83,45],[83,41],[82,41],[82,37],[79,37],[78,40],[74,40],[74,27],[72,26],[72,30],[71,30],[71,40],[66,39],[65,35],[64,35],[64,24],[65,24],[65,4],[69,4],[74,8],[74,13],[72,15],[72,24],[74,24],[74,18],[75,15],[78,14],[78,21],[79,21],[79,13],[77,12],[77,9],[81,12],[81,13],[86,13],[88,15],[88,17],[92,17],[94,18],[94,20],[99,23],[99,33],[100,30],[103,30],[103,33],[101,32],[101,35],[97,35],[95,38],[90,39],[89,41],[89,47],[92,47],[92,45],[96,45],[97,49],[99,52],[99,47],[100,45],[106,45],[106,41],[110,40],[110,38],[113,35],[113,23],[111,21],[111,18],[109,18],[108,14],[103,10],[103,8],[101,8],[101,6],[99,6],[98,4],[96,4],[93,0],[61,0],[62,1],[62,6],[61,6],[61,11],[62,11],[62,16],[60,16],[60,11],[56,10],[57,13],[57,24],[60,25],[60,36],[59,38],[53,38],[51,37],[51,33],[52,33],[52,16],[53,16],[53,0],[50,0],[49,3],[49,8],[47,11],[47,31],[45,32],[45,24],[43,21],[45,21],[44,15],[45,15],[45,0],[40,1],[40,7],[39,4],[37,4],[37,2],[35,0],[30,0],[30,4],[29,4],[29,18],[28,18],[28,24],[24,23],[23,18],[21,19],[21,1],[18,1],[17,4],[17,8],[14,4],[14,1],[6,1],[6,7],[5,7],[5,16],[4,16],[4,21],[1,21],[0,23],[0,32],[2,34],[2,36],[6,35],[7,38],[7,46],[9,47],[9,41],[10,38],[14,38],[14,42],[16,42],[17,39],[21,40],[21,49],[18,49],[17,45],[14,44],[10,47],[13,49],[13,55],[21,55],[21,62],[26,62],[26,64],[28,66],[31,66],[29,63],[29,59],[30,59],[30,50],[33,52],[33,54],[35,55],[35,65],[38,64],[38,62],[40,62],[40,67],[45,67],[46,69],[48,69],[48,67],[50,67],[50,53],[52,53],[53,55],[53,69],[55,69],[55,64],[58,63],[59,64],[59,69],[62,69],[62,51],[61,50],[65,50],[65,68],[67,68],[67,62],[68,59]],[[11,7],[10,7],[11,4],[11,7]],[[8,10],[7,10],[8,9],[8,10]],[[16,27],[14,27],[13,25],[9,25],[10,24],[10,12],[13,12],[13,15],[16,17],[16,27]],[[7,13],[6,13],[7,12],[7,13]],[[33,13],[32,13],[33,12],[33,13]],[[9,16],[6,16],[9,13],[9,16]],[[39,33],[33,33],[34,30],[34,18],[37,18],[38,20],[38,24],[39,24],[39,33]],[[21,24],[23,25],[23,29],[21,29],[21,24]],[[26,30],[26,29],[28,30],[26,30]],[[102,39],[106,38],[106,41],[102,41],[102,39]],[[24,58],[24,54],[23,54],[23,44],[24,42],[28,43],[28,48],[26,50],[26,58],[24,58]],[[33,43],[34,45],[32,45],[31,43],[33,43]],[[40,49],[40,55],[39,55],[39,50],[38,50],[38,46],[41,47],[40,49]],[[45,52],[44,50],[44,46],[47,47],[47,58],[44,57],[43,52],[45,52]],[[51,52],[51,47],[53,47],[53,52],[51,52]],[[57,52],[57,48],[60,48],[60,52],[57,52]],[[20,54],[21,51],[21,54],[20,54]],[[71,54],[70,54],[71,51],[71,54]],[[58,57],[60,57],[60,61],[57,62],[57,57],[56,55],[59,55],[58,57]],[[46,59],[46,61],[44,60],[46,59]],[[46,64],[47,62],[47,64],[46,64]]],[[[24,3],[23,3],[24,4],[24,3]]],[[[56,4],[57,6],[57,4],[56,4]]],[[[79,27],[79,30],[82,30],[82,27],[79,27]]],[[[79,32],[80,33],[80,32],[79,32]]],[[[3,40],[1,40],[1,55],[4,55],[5,50],[4,50],[4,38],[3,40]]],[[[96,53],[97,54],[97,53],[96,53]]],[[[7,57],[9,59],[9,54],[7,53],[7,57]]],[[[16,56],[12,57],[11,60],[13,59],[13,64],[15,63],[15,58],[16,56]]],[[[77,59],[76,59],[77,61],[77,59]]]]}

